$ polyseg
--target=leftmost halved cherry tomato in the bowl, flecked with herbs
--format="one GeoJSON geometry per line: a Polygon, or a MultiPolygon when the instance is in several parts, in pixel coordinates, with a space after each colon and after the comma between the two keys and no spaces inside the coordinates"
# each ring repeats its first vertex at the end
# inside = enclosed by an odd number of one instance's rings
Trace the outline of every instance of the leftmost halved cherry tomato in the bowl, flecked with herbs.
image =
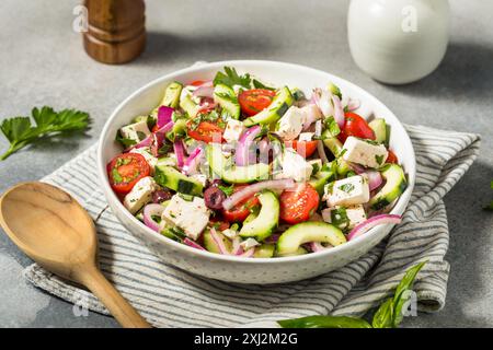
{"type": "Polygon", "coordinates": [[[110,184],[118,194],[128,194],[139,179],[149,174],[149,164],[144,155],[138,153],[117,155],[107,164],[110,184]]]}

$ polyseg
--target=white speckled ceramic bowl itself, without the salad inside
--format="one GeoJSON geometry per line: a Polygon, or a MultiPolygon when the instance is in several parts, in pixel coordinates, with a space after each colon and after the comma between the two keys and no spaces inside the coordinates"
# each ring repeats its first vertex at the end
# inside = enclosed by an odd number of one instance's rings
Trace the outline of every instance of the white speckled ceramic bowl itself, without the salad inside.
{"type": "Polygon", "coordinates": [[[239,72],[250,72],[277,85],[297,86],[307,93],[332,81],[341,88],[343,94],[362,101],[362,110],[358,110],[362,115],[367,116],[374,112],[376,116],[385,118],[392,130],[390,147],[398,155],[409,178],[408,189],[400,197],[392,213],[404,212],[414,187],[414,150],[398,118],[380,101],[353,83],[316,69],[273,61],[223,61],[186,68],[152,81],[126,98],[106,121],[98,149],[99,176],[113,213],[125,228],[162,260],[184,270],[222,281],[260,284],[297,281],[329,272],[357,259],[387,236],[392,229],[390,224],[375,228],[356,240],[320,253],[272,259],[241,258],[211,254],[171,241],[148,229],[124,208],[110,187],[106,176],[106,164],[122,152],[122,148],[115,142],[118,128],[138,115],[148,114],[158,105],[165,86],[171,81],[213,79],[225,66],[234,67],[239,72]]]}

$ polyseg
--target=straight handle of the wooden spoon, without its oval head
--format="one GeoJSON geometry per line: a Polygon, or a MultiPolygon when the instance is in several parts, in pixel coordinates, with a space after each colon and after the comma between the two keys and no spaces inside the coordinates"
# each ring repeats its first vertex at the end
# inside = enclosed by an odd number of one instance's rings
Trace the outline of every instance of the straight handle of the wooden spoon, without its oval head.
{"type": "Polygon", "coordinates": [[[98,268],[84,271],[81,282],[94,293],[110,313],[125,328],[151,328],[152,326],[119,294],[98,268]]]}

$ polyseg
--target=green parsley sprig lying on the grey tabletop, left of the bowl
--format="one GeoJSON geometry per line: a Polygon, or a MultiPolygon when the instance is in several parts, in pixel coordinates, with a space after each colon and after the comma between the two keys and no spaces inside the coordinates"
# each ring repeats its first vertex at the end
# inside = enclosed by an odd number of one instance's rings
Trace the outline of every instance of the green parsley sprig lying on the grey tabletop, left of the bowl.
{"type": "Polygon", "coordinates": [[[83,131],[89,127],[90,118],[85,112],[64,109],[55,112],[51,107],[34,108],[30,117],[8,118],[0,125],[0,130],[10,142],[3,161],[10,155],[42,137],[54,137],[69,131],[83,131]],[[32,119],[35,125],[32,124],[32,119]]]}

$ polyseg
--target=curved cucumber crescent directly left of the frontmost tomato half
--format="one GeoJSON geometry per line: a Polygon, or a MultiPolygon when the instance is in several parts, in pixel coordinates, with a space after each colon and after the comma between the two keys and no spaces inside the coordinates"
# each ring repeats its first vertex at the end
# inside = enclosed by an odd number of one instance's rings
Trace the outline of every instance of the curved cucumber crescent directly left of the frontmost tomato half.
{"type": "Polygon", "coordinates": [[[240,236],[243,238],[252,237],[262,242],[277,228],[279,222],[279,201],[276,195],[270,190],[263,190],[259,196],[259,200],[261,202],[259,215],[252,221],[243,223],[240,236]]]}

